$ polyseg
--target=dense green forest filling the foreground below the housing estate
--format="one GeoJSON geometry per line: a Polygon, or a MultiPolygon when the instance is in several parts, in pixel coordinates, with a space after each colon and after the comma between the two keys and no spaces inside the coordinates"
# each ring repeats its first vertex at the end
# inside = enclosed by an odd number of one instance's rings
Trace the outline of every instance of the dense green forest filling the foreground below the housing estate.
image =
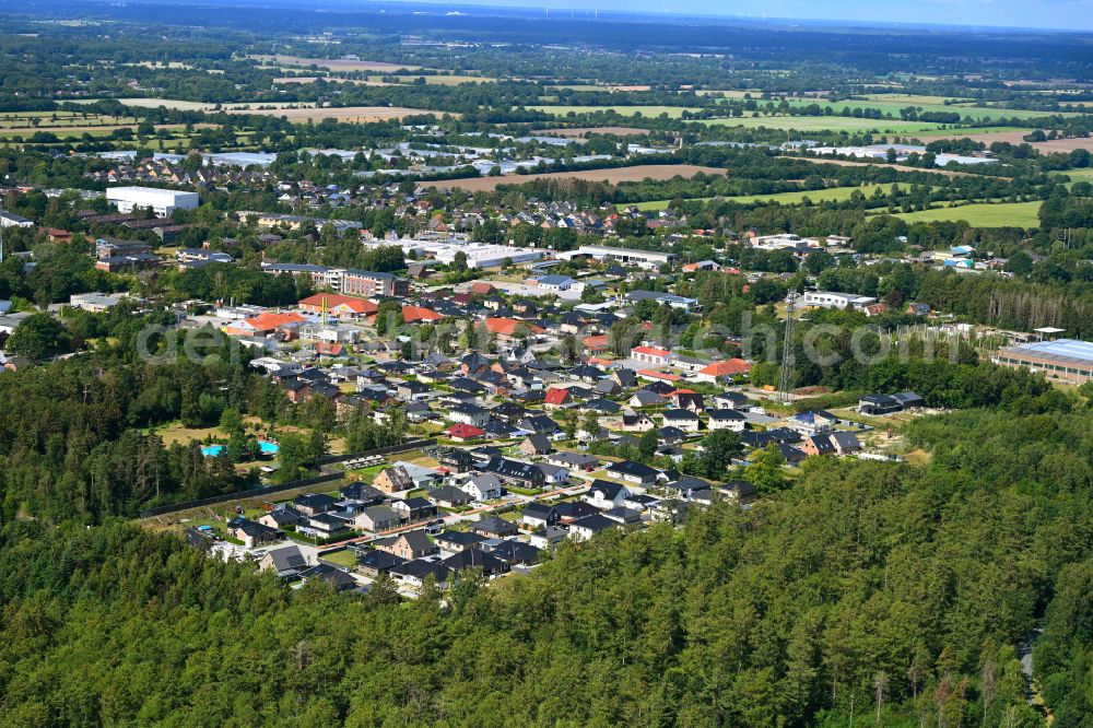
{"type": "Polygon", "coordinates": [[[813,460],[751,510],[603,535],[399,603],[292,592],[122,522],[9,521],[19,726],[1085,726],[1093,411],[972,410],[928,465],[813,460]]]}

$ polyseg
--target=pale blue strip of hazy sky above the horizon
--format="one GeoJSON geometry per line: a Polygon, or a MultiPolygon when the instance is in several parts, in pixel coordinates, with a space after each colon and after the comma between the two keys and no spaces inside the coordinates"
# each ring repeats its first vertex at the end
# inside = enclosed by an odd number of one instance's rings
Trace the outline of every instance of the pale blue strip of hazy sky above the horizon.
{"type": "MultiPolygon", "coordinates": [[[[436,0],[433,0],[436,1],[436,0]]],[[[462,4],[1093,31],[1093,0],[456,0],[462,4]]]]}

